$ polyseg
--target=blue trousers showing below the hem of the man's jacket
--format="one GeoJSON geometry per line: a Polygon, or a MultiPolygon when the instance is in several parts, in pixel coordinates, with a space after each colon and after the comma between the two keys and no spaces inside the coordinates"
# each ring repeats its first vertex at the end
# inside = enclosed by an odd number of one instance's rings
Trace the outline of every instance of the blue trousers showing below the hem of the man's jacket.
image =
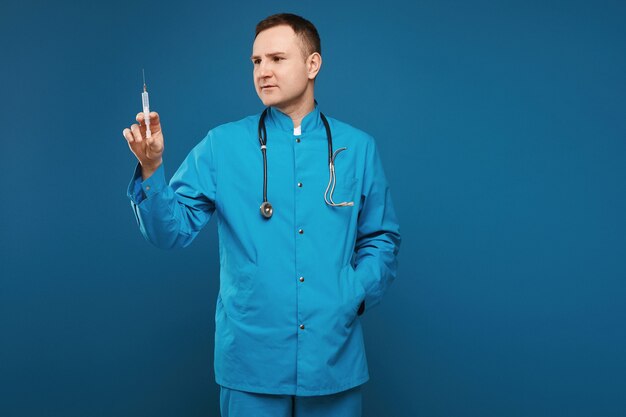
{"type": "Polygon", "coordinates": [[[222,417],[361,417],[361,387],[330,395],[256,394],[220,386],[222,417]]]}

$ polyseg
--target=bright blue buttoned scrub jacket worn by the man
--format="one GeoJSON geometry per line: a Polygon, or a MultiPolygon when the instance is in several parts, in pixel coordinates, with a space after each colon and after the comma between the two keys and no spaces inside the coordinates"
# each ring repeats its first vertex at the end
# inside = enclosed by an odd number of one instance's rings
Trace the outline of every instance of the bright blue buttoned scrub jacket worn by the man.
{"type": "Polygon", "coordinates": [[[242,391],[325,395],[369,379],[360,314],[396,277],[398,220],[374,139],[327,117],[335,160],[334,201],[326,130],[315,108],[294,135],[271,107],[267,195],[261,216],[260,114],[208,132],[169,185],[164,167],[129,184],[137,223],[159,248],[188,246],[215,214],[220,290],[215,311],[215,379],[242,391]]]}

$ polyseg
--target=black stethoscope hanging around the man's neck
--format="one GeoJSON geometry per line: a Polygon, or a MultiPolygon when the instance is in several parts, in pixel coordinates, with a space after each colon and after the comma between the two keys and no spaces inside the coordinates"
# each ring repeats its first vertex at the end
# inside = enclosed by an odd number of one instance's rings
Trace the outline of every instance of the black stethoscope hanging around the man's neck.
{"type": "MultiPolygon", "coordinates": [[[[267,130],[265,129],[265,116],[267,115],[267,111],[269,107],[263,110],[261,113],[261,117],[259,118],[259,142],[261,143],[261,153],[263,154],[263,204],[261,204],[261,215],[269,219],[274,214],[274,208],[272,204],[267,201],[267,130]]],[[[330,173],[330,179],[328,180],[328,186],[326,186],[326,191],[324,192],[324,201],[326,204],[332,207],[346,207],[353,206],[353,201],[344,201],[341,203],[335,203],[333,201],[333,192],[335,191],[335,184],[337,183],[337,178],[335,177],[335,158],[341,151],[345,151],[346,147],[339,148],[333,153],[333,136],[330,133],[330,126],[328,125],[328,120],[326,120],[326,116],[320,113],[320,117],[322,118],[322,122],[324,122],[324,127],[326,128],[326,139],[328,140],[328,171],[330,173]]]]}

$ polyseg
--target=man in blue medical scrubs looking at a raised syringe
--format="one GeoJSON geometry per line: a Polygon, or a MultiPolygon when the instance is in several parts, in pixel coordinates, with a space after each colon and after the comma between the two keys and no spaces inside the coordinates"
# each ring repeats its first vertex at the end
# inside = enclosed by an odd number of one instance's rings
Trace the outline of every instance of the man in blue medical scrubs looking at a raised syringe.
{"type": "Polygon", "coordinates": [[[151,138],[142,113],[124,129],[139,160],[128,196],[161,248],[186,247],[217,217],[223,416],[360,416],[369,375],[359,316],[395,278],[400,245],[379,154],[371,136],[320,113],[311,22],[261,21],[251,59],[265,114],[210,130],[169,185],[158,114],[151,138]]]}

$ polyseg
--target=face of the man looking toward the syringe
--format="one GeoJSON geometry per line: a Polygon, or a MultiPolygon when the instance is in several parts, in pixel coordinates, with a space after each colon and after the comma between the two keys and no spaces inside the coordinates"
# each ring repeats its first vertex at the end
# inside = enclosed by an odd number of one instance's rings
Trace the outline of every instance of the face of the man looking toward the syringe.
{"type": "Polygon", "coordinates": [[[297,106],[311,94],[321,64],[316,52],[306,59],[302,43],[287,25],[259,33],[252,47],[254,87],[266,106],[281,110],[297,106]]]}

